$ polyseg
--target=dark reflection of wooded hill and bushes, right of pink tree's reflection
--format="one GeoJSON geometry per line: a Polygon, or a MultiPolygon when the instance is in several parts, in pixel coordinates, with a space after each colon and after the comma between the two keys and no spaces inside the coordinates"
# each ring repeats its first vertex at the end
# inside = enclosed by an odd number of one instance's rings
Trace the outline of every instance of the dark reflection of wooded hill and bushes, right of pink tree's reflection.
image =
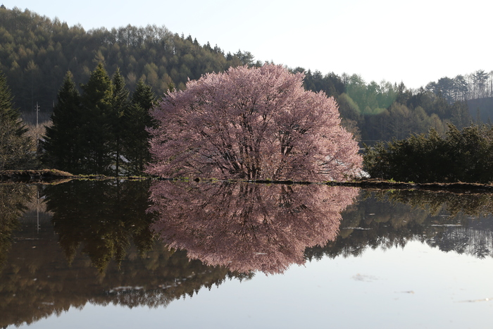
{"type": "Polygon", "coordinates": [[[493,257],[493,195],[364,190],[342,213],[337,240],[306,249],[307,259],[361,256],[368,248],[419,241],[442,252],[493,257]]]}

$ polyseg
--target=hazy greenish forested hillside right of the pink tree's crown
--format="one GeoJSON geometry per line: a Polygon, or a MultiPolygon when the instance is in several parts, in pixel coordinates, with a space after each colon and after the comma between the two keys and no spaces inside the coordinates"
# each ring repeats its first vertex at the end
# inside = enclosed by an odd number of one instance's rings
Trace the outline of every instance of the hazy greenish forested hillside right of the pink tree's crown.
{"type": "MultiPolygon", "coordinates": [[[[295,69],[297,71],[302,68],[295,69]]],[[[448,101],[439,92],[408,89],[382,81],[366,83],[359,75],[323,75],[306,72],[307,89],[324,90],[339,104],[342,124],[366,144],[404,139],[434,128],[444,135],[452,123],[463,128],[471,123],[466,101],[448,101]]]]}

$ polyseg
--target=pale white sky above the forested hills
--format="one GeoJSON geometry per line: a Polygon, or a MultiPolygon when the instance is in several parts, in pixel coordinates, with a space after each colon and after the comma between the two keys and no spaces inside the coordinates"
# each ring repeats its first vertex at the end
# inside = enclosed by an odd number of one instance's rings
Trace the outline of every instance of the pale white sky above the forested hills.
{"type": "Polygon", "coordinates": [[[491,1],[0,0],[85,30],[166,26],[226,53],[417,88],[493,70],[491,1]]]}

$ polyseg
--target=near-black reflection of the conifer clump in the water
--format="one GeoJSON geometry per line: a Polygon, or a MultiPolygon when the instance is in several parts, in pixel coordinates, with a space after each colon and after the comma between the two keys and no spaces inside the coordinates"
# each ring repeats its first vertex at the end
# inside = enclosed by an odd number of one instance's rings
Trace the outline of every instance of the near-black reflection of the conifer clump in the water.
{"type": "Polygon", "coordinates": [[[140,254],[151,249],[146,182],[72,181],[47,187],[48,209],[69,262],[77,250],[104,273],[111,260],[121,263],[135,243],[140,254]]]}

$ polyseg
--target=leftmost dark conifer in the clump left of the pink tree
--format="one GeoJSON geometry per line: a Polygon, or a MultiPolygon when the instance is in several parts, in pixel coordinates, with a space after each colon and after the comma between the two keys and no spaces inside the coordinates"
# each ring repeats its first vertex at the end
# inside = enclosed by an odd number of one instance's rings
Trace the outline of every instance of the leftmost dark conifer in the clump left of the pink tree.
{"type": "Polygon", "coordinates": [[[46,128],[46,154],[43,159],[46,165],[70,173],[80,173],[80,147],[84,142],[80,135],[80,106],[80,94],[69,71],[58,91],[56,105],[51,113],[53,125],[46,128]]]}

